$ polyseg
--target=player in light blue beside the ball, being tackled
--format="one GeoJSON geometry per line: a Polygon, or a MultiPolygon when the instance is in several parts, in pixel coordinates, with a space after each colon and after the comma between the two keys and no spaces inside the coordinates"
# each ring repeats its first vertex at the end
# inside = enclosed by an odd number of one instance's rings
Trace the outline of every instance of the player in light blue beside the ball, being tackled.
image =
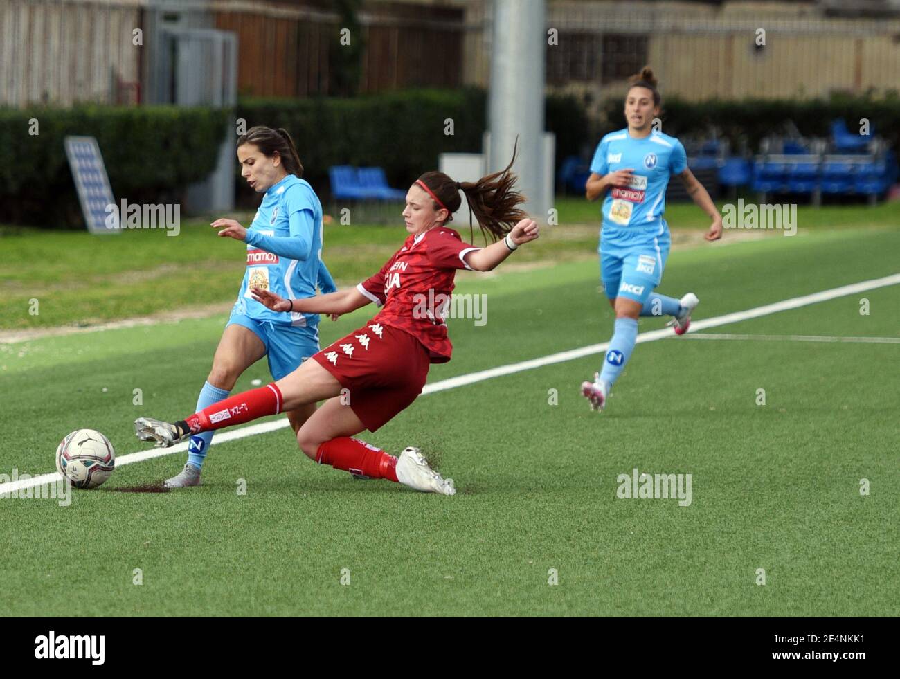
{"type": "MultiPolygon", "coordinates": [[[[253,223],[243,228],[234,219],[217,219],[220,237],[247,244],[247,272],[228,324],[212,360],[212,370],[197,409],[228,398],[247,368],[266,356],[269,372],[281,380],[319,351],[319,315],[272,311],[253,299],[250,288],[270,290],[284,299],[335,292],[334,281],[321,261],[322,206],[311,185],[302,180],[303,167],[285,130],[255,127],[238,138],[241,175],[263,201],[253,223]]],[[[315,404],[288,411],[296,433],[314,413],[315,404]]],[[[222,419],[228,411],[219,414],[222,419]]],[[[165,486],[197,486],[212,432],[192,436],[184,469],[165,486]]]]}

